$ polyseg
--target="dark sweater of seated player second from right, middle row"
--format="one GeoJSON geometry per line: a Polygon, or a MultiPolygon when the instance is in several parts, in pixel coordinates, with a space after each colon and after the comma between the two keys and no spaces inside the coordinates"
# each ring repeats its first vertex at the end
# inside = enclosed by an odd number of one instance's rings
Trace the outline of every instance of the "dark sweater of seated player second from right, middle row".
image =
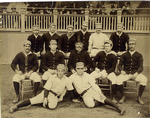
{"type": "Polygon", "coordinates": [[[108,74],[114,72],[116,63],[117,56],[114,54],[106,55],[104,51],[99,52],[94,58],[94,67],[97,67],[100,70],[105,69],[108,74]]]}

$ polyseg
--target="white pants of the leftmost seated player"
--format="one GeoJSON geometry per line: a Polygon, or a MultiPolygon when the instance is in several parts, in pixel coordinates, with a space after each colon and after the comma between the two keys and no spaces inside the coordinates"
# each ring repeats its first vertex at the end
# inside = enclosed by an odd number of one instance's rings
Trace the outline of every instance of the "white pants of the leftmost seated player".
{"type": "MultiPolygon", "coordinates": [[[[24,74],[22,75],[15,74],[13,76],[13,82],[20,82],[23,79],[25,79],[24,74]]],[[[29,79],[33,80],[33,82],[41,82],[41,77],[36,72],[33,72],[29,77],[29,79]]]]}

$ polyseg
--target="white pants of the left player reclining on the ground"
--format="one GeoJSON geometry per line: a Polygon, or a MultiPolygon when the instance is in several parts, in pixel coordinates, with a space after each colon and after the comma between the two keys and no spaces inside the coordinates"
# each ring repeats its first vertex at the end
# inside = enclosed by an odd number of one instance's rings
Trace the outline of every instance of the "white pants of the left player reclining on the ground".
{"type": "MultiPolygon", "coordinates": [[[[30,99],[31,105],[40,104],[40,103],[43,103],[43,101],[44,101],[44,90],[40,94],[38,94],[37,96],[30,99]]],[[[57,104],[58,104],[58,98],[54,94],[49,92],[49,94],[48,94],[48,107],[50,109],[55,109],[57,107],[57,104]]]]}

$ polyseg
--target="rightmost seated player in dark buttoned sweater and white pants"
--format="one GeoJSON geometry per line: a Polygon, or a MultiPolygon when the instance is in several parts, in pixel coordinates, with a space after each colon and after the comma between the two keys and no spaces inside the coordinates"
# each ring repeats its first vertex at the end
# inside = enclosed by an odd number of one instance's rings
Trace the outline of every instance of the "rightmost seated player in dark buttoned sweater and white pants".
{"type": "Polygon", "coordinates": [[[147,78],[141,73],[143,71],[143,56],[135,50],[136,39],[129,39],[129,51],[124,53],[120,58],[119,71],[121,74],[118,76],[118,85],[122,98],[119,103],[123,103],[126,99],[123,89],[123,82],[133,80],[140,83],[137,100],[140,104],[144,104],[141,100],[143,91],[147,85],[147,78]]]}

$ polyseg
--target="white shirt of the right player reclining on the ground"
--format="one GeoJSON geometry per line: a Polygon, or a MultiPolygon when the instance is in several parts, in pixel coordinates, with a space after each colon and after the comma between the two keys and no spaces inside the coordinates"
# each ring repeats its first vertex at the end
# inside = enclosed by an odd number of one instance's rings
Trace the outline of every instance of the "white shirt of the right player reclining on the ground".
{"type": "Polygon", "coordinates": [[[92,84],[95,84],[95,80],[86,72],[84,72],[83,76],[74,73],[69,77],[68,90],[74,89],[72,84],[75,86],[77,92],[81,94],[84,90],[90,88],[92,84]]]}

